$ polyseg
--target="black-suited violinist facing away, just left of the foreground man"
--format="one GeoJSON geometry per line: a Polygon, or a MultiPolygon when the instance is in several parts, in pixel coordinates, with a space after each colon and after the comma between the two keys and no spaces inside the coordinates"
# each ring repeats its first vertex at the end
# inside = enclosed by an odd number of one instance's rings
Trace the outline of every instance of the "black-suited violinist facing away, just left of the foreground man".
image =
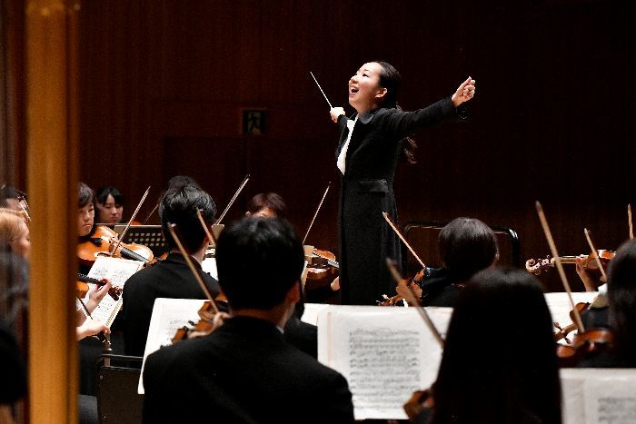
{"type": "MultiPolygon", "coordinates": [[[[205,299],[204,291],[168,232],[169,223],[175,224],[185,251],[190,253],[197,270],[201,271],[201,261],[209,240],[197,217],[197,210],[206,225],[211,227],[216,207],[210,194],[199,186],[186,184],[164,193],[159,204],[159,216],[171,251],[164,261],[134,273],[124,284],[124,350],[127,355],[144,355],[155,299],[205,299]]],[[[201,276],[213,296],[218,295],[217,281],[203,271],[201,276]]]]}

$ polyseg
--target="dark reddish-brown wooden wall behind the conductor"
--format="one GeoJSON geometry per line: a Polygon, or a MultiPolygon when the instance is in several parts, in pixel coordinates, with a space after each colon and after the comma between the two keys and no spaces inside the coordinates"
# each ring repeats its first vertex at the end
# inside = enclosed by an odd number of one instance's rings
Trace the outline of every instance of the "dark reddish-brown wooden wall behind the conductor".
{"type": "Polygon", "coordinates": [[[548,252],[533,209],[541,199],[564,253],[587,251],[584,225],[616,248],[634,201],[633,7],[499,3],[85,2],[82,178],[120,186],[130,211],[181,164],[220,204],[251,172],[242,202],[281,192],[299,232],[333,181],[315,244],[334,249],[337,134],[308,73],[342,105],[351,74],[382,58],[402,72],[405,109],[451,94],[469,74],[478,80],[470,120],[417,134],[420,163],[400,165],[402,222],[508,225],[525,258],[548,252]],[[241,134],[245,108],[266,110],[262,137],[241,134]],[[213,172],[198,168],[209,162],[213,172]]]}

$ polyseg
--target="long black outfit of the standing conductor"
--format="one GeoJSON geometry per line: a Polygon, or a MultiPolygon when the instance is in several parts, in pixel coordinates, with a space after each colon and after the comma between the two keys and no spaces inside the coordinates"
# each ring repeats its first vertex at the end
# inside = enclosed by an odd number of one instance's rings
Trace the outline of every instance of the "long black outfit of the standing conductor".
{"type": "MultiPolygon", "coordinates": [[[[395,286],[386,258],[400,262],[400,244],[382,212],[397,222],[393,177],[402,140],[453,116],[460,113],[447,97],[414,112],[379,108],[358,117],[341,181],[340,281],[344,304],[375,304],[395,286]]],[[[345,116],[338,119],[338,125],[342,133],[336,158],[349,133],[345,116]]]]}

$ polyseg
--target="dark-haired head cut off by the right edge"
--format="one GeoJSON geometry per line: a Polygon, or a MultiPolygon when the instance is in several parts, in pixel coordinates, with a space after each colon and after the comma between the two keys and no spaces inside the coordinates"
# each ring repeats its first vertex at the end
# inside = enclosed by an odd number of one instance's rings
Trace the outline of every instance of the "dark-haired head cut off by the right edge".
{"type": "Polygon", "coordinates": [[[608,269],[607,297],[616,352],[636,358],[636,240],[622,244],[608,269]]]}

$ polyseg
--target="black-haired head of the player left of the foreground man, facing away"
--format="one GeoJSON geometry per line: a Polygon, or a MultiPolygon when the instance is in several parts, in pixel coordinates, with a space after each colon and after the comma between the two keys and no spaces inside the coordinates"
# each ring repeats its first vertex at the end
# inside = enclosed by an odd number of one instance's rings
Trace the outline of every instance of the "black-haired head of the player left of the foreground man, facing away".
{"type": "Polygon", "coordinates": [[[192,254],[204,247],[207,235],[201,221],[196,216],[197,210],[201,212],[207,226],[212,226],[216,214],[214,200],[198,185],[176,186],[164,193],[164,197],[159,203],[159,216],[161,217],[165,242],[168,243],[170,249],[177,248],[173,236],[168,231],[170,223],[176,225],[174,230],[188,253],[192,254]]]}

